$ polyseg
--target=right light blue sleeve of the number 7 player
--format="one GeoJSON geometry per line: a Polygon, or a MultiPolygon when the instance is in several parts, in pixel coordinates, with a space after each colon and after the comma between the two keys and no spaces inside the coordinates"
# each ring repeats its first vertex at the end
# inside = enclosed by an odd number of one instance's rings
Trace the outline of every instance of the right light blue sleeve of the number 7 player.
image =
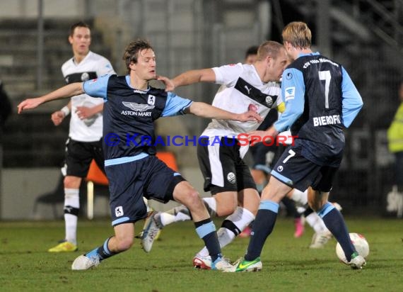
{"type": "Polygon", "coordinates": [[[346,69],[341,67],[341,72],[343,74],[343,81],[341,82],[343,125],[344,127],[349,128],[351,123],[353,123],[354,118],[356,118],[358,112],[363,107],[363,99],[358,93],[356,86],[351,81],[346,69]]]}

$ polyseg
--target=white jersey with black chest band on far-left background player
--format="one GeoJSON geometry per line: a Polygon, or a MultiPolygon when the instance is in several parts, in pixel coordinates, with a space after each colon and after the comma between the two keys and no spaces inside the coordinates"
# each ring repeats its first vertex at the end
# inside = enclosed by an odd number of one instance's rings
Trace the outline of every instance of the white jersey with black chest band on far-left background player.
{"type": "MultiPolygon", "coordinates": [[[[88,52],[88,55],[79,63],[71,58],[62,65],[62,73],[67,84],[84,82],[105,74],[115,74],[112,64],[103,56],[88,52]]],[[[103,136],[102,112],[90,118],[81,120],[76,113],[77,106],[92,108],[103,103],[103,99],[94,98],[87,94],[80,94],[71,98],[71,120],[69,137],[81,142],[95,142],[103,136]]]]}

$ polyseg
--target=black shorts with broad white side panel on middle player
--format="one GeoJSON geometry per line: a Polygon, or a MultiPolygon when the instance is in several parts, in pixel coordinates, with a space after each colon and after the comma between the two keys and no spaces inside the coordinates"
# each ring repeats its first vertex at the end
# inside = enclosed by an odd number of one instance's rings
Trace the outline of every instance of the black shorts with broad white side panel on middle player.
{"type": "Polygon", "coordinates": [[[256,189],[249,167],[240,158],[238,140],[222,137],[221,145],[207,145],[208,143],[209,138],[204,137],[197,145],[197,158],[204,176],[204,191],[211,191],[215,195],[223,191],[256,189]]]}

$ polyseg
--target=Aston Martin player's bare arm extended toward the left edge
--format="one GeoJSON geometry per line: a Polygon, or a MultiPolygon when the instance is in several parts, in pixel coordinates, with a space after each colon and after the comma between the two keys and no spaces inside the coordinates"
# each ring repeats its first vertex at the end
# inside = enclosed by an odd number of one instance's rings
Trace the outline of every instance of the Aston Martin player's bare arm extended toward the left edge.
{"type": "Polygon", "coordinates": [[[21,113],[22,111],[25,111],[27,109],[36,108],[42,103],[46,103],[48,101],[54,101],[55,99],[66,99],[68,97],[76,96],[83,93],[84,91],[82,82],[67,84],[66,86],[52,91],[49,94],[45,94],[44,96],[40,96],[35,99],[25,99],[25,101],[22,101],[20,104],[18,104],[18,113],[21,113]]]}

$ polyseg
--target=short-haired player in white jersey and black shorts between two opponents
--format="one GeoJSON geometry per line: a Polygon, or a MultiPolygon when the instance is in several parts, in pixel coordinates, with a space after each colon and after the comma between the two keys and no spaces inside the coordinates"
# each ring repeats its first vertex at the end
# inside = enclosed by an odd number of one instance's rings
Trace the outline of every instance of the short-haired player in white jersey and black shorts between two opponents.
{"type": "MultiPolygon", "coordinates": [[[[283,45],[266,41],[259,46],[255,64],[230,64],[209,69],[190,70],[174,79],[161,78],[166,90],[196,82],[221,84],[213,106],[243,113],[248,109],[257,111],[262,118],[270,108],[284,109],[279,87],[269,82],[281,78],[288,57],[283,45]]],[[[210,198],[203,198],[211,215],[228,216],[218,230],[218,240],[225,247],[252,220],[259,207],[259,193],[249,167],[243,157],[249,147],[248,141],[239,145],[238,135],[248,133],[259,126],[255,122],[238,123],[233,120],[212,120],[202,133],[197,145],[199,166],[204,176],[204,191],[211,191],[210,198]]],[[[154,213],[146,221],[141,244],[150,252],[156,235],[165,225],[190,220],[184,206],[165,213],[154,213]]],[[[201,269],[210,269],[211,259],[204,247],[196,254],[193,264],[201,269]]]]}

